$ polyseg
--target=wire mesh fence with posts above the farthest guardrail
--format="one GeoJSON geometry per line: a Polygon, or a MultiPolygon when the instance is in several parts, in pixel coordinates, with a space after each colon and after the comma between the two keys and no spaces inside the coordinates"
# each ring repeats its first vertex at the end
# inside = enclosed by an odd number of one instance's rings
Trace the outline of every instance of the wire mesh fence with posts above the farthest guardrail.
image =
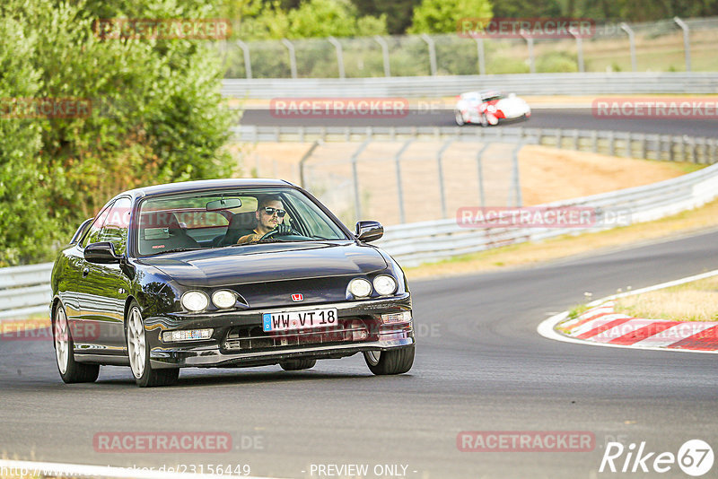
{"type": "Polygon", "coordinates": [[[227,78],[716,71],[718,17],[608,23],[586,39],[442,35],[220,42],[227,78]],[[249,60],[249,64],[248,61],[249,60]]]}

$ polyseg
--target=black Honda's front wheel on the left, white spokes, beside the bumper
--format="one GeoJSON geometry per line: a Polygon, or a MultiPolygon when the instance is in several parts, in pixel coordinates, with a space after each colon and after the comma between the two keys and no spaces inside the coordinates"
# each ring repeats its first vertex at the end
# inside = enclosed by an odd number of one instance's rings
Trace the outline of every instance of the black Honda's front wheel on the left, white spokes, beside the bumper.
{"type": "Polygon", "coordinates": [[[180,368],[152,369],[142,310],[136,301],[132,301],[127,309],[125,339],[127,340],[130,370],[132,370],[132,376],[135,378],[137,386],[154,388],[177,383],[177,379],[180,377],[180,368]]]}

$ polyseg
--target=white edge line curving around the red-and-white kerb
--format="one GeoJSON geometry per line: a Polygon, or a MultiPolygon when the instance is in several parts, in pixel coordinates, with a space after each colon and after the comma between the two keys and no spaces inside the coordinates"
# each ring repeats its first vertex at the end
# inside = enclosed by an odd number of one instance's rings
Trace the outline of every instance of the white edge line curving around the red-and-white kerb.
{"type": "MultiPolygon", "coordinates": [[[[691,283],[694,281],[702,280],[705,278],[710,278],[713,276],[718,275],[718,269],[714,269],[713,271],[709,271],[707,273],[702,274],[695,274],[693,276],[687,276],[685,278],[680,278],[678,280],[669,281],[667,283],[660,283],[655,284],[653,286],[648,286],[647,288],[641,288],[640,290],[630,291],[630,292],[622,292],[619,294],[614,294],[611,296],[607,296],[606,298],[602,298],[600,300],[593,300],[590,303],[588,303],[587,306],[595,307],[599,306],[600,304],[609,301],[609,300],[616,300],[618,298],[623,298],[625,296],[632,296],[634,294],[640,294],[642,292],[652,292],[656,290],[661,290],[664,288],[670,288],[671,286],[678,286],[679,284],[683,283],[691,283]]],[[[672,349],[672,348],[666,348],[666,347],[659,347],[659,346],[635,346],[634,344],[607,344],[607,343],[594,343],[592,341],[586,341],[584,339],[576,339],[574,337],[570,337],[567,335],[563,335],[556,331],[555,327],[558,323],[563,321],[565,318],[568,318],[568,311],[564,311],[562,313],[558,313],[551,318],[544,319],[541,321],[541,324],[538,325],[536,328],[536,331],[539,335],[544,336],[547,339],[553,339],[555,341],[562,341],[564,343],[574,343],[574,344],[584,344],[584,345],[590,345],[590,346],[603,346],[603,347],[611,347],[611,348],[626,348],[626,349],[640,349],[640,350],[648,350],[648,351],[671,351],[676,353],[703,353],[703,354],[718,354],[718,351],[698,351],[695,349],[672,349]]]]}

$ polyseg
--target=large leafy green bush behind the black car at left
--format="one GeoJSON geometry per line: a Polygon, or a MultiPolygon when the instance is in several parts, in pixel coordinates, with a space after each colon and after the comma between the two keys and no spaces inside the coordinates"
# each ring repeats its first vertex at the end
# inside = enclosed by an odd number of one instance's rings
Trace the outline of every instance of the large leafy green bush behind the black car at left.
{"type": "Polygon", "coordinates": [[[97,18],[212,12],[189,0],[127,4],[127,11],[83,0],[0,6],[2,97],[92,101],[86,118],[0,120],[2,266],[52,257],[124,189],[232,174],[222,149],[232,114],[221,106],[216,49],[201,40],[99,39],[92,30],[97,18]]]}

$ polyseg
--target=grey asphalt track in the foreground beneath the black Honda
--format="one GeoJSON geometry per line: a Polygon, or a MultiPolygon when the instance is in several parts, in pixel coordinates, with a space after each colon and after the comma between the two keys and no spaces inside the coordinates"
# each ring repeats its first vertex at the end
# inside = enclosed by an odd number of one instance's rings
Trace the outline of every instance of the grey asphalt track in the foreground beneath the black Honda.
{"type": "MultiPolygon", "coordinates": [[[[311,475],[312,464],[366,464],[404,465],[417,479],[574,479],[603,476],[608,440],[676,454],[701,439],[718,450],[715,355],[565,344],[536,332],[584,292],[598,298],[715,268],[718,231],[412,283],[416,362],[395,377],[374,377],[353,356],[297,372],[183,370],[179,386],[153,389],[136,388],[128,368],[105,367],[97,383],[67,386],[49,341],[0,341],[0,455],[102,466],[249,464],[252,475],[278,477],[328,477],[311,475]],[[94,435],[115,431],[225,431],[234,450],[95,452],[94,435]],[[596,446],[460,452],[460,431],[591,431],[596,446]]],[[[687,477],[676,465],[663,475],[604,475],[687,477]]]]}

